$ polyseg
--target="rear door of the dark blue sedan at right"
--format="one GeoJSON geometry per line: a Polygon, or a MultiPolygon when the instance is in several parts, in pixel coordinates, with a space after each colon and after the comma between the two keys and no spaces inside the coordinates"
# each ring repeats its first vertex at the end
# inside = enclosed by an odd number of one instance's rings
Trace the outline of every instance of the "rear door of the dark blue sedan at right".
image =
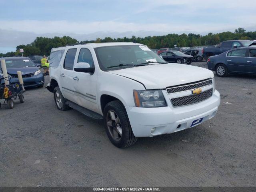
{"type": "Polygon", "coordinates": [[[235,49],[227,53],[226,60],[230,72],[244,73],[249,71],[249,64],[246,62],[246,48],[235,49]]]}

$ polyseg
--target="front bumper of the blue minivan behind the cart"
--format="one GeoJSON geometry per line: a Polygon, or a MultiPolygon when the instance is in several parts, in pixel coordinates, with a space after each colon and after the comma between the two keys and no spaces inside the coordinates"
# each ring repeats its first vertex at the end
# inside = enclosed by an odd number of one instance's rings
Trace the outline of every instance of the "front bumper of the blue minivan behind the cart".
{"type": "MultiPolygon", "coordinates": [[[[11,78],[10,80],[11,83],[19,83],[18,78],[11,78]]],[[[44,84],[44,75],[42,73],[28,77],[28,78],[23,78],[24,86],[25,87],[32,87],[32,86],[40,86],[44,84]]]]}

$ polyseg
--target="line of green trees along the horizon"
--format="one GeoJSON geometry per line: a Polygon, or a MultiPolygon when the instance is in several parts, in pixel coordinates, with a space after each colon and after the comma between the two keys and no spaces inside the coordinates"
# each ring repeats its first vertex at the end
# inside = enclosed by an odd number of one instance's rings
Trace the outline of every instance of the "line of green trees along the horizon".
{"type": "Polygon", "coordinates": [[[50,55],[51,49],[53,47],[66,46],[68,44],[77,43],[88,43],[88,42],[137,42],[142,43],[150,47],[151,49],[158,48],[172,48],[174,45],[178,47],[190,47],[190,46],[202,46],[202,45],[215,45],[220,44],[220,42],[225,40],[256,40],[256,31],[246,32],[244,28],[238,28],[234,32],[221,32],[207,35],[200,34],[168,34],[164,36],[147,36],[144,38],[132,36],[131,38],[110,38],[105,37],[104,39],[97,38],[95,41],[81,41],[71,38],[70,36],[63,37],[37,37],[34,42],[27,45],[18,45],[16,47],[16,52],[8,52],[6,54],[0,53],[0,56],[17,56],[21,55],[19,52],[20,48],[24,49],[24,56],[29,55],[50,55]]]}

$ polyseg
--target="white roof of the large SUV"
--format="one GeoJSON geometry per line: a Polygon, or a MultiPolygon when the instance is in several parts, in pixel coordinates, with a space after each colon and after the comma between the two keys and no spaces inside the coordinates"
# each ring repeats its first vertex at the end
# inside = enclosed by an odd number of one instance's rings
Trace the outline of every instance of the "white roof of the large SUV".
{"type": "Polygon", "coordinates": [[[84,46],[91,46],[92,48],[97,48],[97,47],[105,47],[105,46],[120,46],[120,45],[143,45],[140,43],[133,43],[133,42],[111,42],[111,43],[87,43],[87,44],[77,44],[77,45],[72,45],[72,46],[64,46],[64,47],[58,47],[58,48],[52,48],[52,51],[54,50],[62,50],[65,48],[80,48],[84,46]]]}

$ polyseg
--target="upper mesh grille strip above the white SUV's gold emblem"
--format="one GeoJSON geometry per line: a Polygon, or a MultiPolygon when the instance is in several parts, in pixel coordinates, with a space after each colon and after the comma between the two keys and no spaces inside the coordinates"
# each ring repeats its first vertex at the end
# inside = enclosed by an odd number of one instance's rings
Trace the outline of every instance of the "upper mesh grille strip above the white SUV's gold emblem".
{"type": "Polygon", "coordinates": [[[197,82],[197,83],[192,83],[189,85],[184,85],[184,86],[179,86],[179,87],[174,87],[174,88],[167,88],[166,91],[168,94],[171,93],[176,93],[176,92],[181,92],[181,91],[187,91],[187,90],[191,90],[191,89],[195,89],[195,88],[200,88],[200,87],[204,87],[207,85],[211,85],[212,84],[212,80],[206,80],[206,81],[201,81],[201,82],[197,82]]]}

